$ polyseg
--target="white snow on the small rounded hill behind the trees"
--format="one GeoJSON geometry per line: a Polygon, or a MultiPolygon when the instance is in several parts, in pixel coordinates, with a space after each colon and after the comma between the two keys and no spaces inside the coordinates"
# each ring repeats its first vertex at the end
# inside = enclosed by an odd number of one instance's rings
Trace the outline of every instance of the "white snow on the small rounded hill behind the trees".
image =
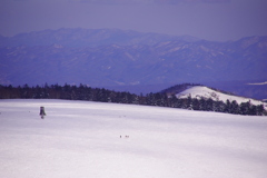
{"type": "Polygon", "coordinates": [[[215,90],[212,90],[208,87],[204,87],[204,86],[195,86],[195,87],[186,89],[185,91],[176,95],[177,98],[187,98],[189,96],[191,96],[191,98],[198,98],[198,99],[201,99],[202,97],[211,98],[212,100],[221,100],[224,102],[226,102],[227,99],[229,99],[229,101],[236,100],[237,103],[239,103],[239,105],[241,102],[250,101],[253,105],[256,105],[256,106],[264,105],[265,108],[267,109],[267,103],[265,103],[263,101],[251,99],[251,98],[226,95],[226,93],[215,91],[215,90]]]}

